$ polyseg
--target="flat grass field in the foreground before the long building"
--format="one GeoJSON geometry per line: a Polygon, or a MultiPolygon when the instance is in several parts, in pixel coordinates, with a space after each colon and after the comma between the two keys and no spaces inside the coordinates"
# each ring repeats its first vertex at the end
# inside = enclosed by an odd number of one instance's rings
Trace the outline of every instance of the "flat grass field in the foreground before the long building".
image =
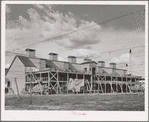
{"type": "Polygon", "coordinates": [[[144,94],[69,94],[5,96],[6,110],[144,111],[144,94]]]}

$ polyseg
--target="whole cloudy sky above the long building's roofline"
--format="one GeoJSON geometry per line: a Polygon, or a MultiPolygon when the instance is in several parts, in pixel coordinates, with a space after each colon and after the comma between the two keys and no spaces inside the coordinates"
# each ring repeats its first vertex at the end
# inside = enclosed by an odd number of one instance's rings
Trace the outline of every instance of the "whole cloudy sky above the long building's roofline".
{"type": "MultiPolygon", "coordinates": [[[[131,49],[132,74],[144,77],[144,9],[143,5],[7,4],[5,50],[25,54],[25,49],[31,48],[41,58],[48,59],[54,52],[61,61],[72,55],[78,63],[88,57],[105,61],[106,67],[114,62],[117,68],[127,69],[131,49]]],[[[5,67],[14,56],[6,53],[5,67]]]]}

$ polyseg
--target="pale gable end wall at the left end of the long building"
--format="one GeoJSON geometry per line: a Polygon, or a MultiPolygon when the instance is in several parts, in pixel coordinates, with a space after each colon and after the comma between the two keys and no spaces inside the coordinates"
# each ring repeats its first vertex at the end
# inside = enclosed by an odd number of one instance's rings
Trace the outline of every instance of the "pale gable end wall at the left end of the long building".
{"type": "Polygon", "coordinates": [[[6,75],[6,78],[10,80],[11,88],[15,94],[17,94],[17,88],[14,78],[17,78],[19,93],[21,93],[21,91],[25,88],[25,67],[18,58],[16,58],[13,62],[6,75]]]}

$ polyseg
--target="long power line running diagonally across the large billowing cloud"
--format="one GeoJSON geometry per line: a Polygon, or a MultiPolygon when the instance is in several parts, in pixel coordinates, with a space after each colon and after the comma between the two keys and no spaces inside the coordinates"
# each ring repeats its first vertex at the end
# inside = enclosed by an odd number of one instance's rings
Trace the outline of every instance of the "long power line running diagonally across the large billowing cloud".
{"type": "MultiPolygon", "coordinates": [[[[96,24],[94,24],[94,25],[91,25],[91,26],[88,26],[88,27],[85,27],[85,28],[82,28],[82,29],[78,29],[78,30],[75,30],[75,31],[71,31],[71,32],[68,32],[68,33],[66,33],[66,34],[62,34],[62,35],[59,35],[59,36],[56,36],[56,37],[53,37],[53,38],[50,38],[50,39],[46,39],[46,40],[39,41],[39,42],[36,42],[36,43],[32,43],[32,44],[29,44],[29,45],[26,45],[26,46],[23,46],[23,47],[20,47],[20,48],[16,48],[16,49],[13,49],[12,51],[18,50],[18,49],[21,49],[21,48],[24,48],[24,47],[29,47],[29,46],[32,46],[32,45],[35,45],[35,44],[38,44],[38,43],[46,42],[46,41],[49,41],[49,40],[52,40],[52,39],[55,39],[55,38],[59,38],[59,37],[62,37],[62,36],[66,36],[66,35],[69,35],[69,34],[72,34],[72,33],[75,33],[75,32],[81,31],[81,30],[84,30],[84,29],[91,28],[91,27],[96,26],[96,25],[100,25],[100,24],[102,24],[102,23],[106,23],[106,22],[109,22],[109,21],[113,21],[113,20],[116,20],[116,19],[125,17],[125,16],[129,16],[129,15],[134,14],[134,13],[139,12],[139,11],[140,11],[140,10],[138,10],[138,11],[133,11],[133,12],[131,12],[131,13],[128,13],[128,14],[125,14],[125,15],[122,15],[122,16],[119,16],[119,17],[115,17],[115,18],[112,18],[112,19],[109,19],[109,20],[106,20],[106,21],[103,21],[103,22],[100,22],[100,23],[96,23],[96,24]]],[[[143,11],[145,11],[145,10],[143,10],[143,11]]]]}

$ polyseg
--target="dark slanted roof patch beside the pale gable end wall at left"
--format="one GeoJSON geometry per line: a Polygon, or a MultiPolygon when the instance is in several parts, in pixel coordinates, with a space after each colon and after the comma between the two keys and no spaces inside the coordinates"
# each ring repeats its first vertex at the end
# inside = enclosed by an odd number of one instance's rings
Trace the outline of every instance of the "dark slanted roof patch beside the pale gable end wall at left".
{"type": "Polygon", "coordinates": [[[18,56],[18,58],[24,64],[25,67],[36,67],[28,57],[18,56]]]}

